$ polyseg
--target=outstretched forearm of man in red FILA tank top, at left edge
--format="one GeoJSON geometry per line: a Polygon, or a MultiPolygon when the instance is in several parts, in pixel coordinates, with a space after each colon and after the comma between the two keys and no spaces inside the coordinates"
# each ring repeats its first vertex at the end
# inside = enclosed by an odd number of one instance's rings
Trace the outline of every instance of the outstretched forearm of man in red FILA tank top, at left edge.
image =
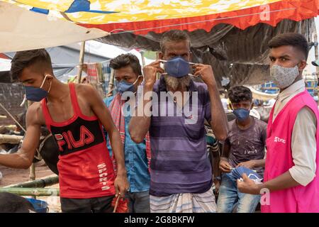
{"type": "Polygon", "coordinates": [[[23,157],[21,153],[14,153],[9,155],[0,155],[0,165],[11,167],[15,169],[28,169],[32,164],[32,160],[28,157],[23,157]]]}

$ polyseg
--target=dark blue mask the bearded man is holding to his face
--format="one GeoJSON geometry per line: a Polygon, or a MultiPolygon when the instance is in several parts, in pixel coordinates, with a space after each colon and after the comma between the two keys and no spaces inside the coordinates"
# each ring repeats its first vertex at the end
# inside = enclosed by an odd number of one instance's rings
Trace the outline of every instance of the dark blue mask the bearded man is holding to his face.
{"type": "Polygon", "coordinates": [[[184,77],[189,74],[189,62],[183,57],[177,56],[164,62],[165,72],[171,77],[184,77]]]}

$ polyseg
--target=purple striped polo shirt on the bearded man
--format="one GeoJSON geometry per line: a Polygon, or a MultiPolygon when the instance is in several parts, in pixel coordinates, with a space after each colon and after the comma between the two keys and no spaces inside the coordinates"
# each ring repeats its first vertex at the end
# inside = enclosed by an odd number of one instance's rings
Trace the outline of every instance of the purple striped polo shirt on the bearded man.
{"type": "MultiPolygon", "coordinates": [[[[161,77],[153,91],[160,97],[167,92],[161,77]]],[[[206,152],[206,131],[204,119],[211,121],[211,104],[206,84],[191,81],[189,85],[189,109],[196,114],[179,109],[172,102],[174,116],[151,117],[150,141],[152,160],[150,162],[150,194],[168,196],[179,193],[203,193],[212,185],[211,165],[206,152]],[[197,92],[197,105],[193,96],[197,92]],[[195,104],[194,104],[195,103],[195,104]],[[179,113],[179,115],[177,114],[179,113]],[[195,123],[185,123],[187,119],[195,123]]],[[[161,111],[169,106],[169,99],[152,101],[152,110],[161,111]]],[[[172,107],[171,106],[171,107],[172,107]]],[[[169,108],[167,108],[169,109],[169,108]]]]}

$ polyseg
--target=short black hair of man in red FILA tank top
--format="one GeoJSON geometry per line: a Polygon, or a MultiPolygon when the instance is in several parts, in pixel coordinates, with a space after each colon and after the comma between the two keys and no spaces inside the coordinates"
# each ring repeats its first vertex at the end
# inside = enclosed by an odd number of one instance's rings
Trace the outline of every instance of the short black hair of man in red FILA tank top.
{"type": "Polygon", "coordinates": [[[13,82],[18,80],[21,72],[34,63],[41,62],[47,67],[51,67],[51,57],[45,49],[25,50],[16,52],[11,61],[11,79],[13,82]]]}

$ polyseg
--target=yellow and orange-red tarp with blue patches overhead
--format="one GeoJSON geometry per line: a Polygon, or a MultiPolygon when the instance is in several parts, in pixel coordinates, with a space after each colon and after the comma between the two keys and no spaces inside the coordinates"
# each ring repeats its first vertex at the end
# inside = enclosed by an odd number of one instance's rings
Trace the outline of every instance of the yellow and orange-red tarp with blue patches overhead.
{"type": "Polygon", "coordinates": [[[245,29],[318,16],[318,0],[2,0],[86,28],[146,34],[169,29],[211,31],[218,23],[245,29]]]}

